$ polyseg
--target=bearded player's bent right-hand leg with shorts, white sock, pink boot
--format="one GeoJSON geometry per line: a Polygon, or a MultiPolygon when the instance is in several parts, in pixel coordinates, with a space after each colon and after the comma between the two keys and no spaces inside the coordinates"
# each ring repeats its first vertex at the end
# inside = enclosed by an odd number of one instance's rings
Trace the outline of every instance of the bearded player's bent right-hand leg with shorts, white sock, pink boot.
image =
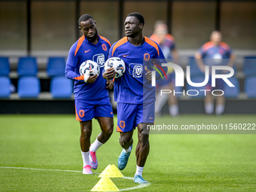
{"type": "Polygon", "coordinates": [[[96,158],[96,151],[105,142],[108,141],[111,134],[113,133],[114,121],[113,121],[113,111],[109,99],[103,99],[99,102],[102,105],[96,105],[94,108],[94,115],[99,122],[99,126],[102,130],[97,136],[92,145],[90,145],[90,166],[93,169],[97,169],[98,160],[96,158]]]}

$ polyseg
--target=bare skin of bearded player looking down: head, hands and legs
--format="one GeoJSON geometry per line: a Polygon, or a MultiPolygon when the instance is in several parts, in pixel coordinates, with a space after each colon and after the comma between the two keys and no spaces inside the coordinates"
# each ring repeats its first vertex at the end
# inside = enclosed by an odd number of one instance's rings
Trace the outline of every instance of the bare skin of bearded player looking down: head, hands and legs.
{"type": "MultiPolygon", "coordinates": [[[[99,39],[97,36],[96,22],[91,18],[87,21],[82,21],[80,23],[79,29],[84,33],[84,37],[87,38],[92,44],[97,44],[99,39]]],[[[98,75],[92,75],[88,78],[87,83],[93,84],[96,81],[98,75]]],[[[106,89],[112,89],[114,84],[113,81],[107,80],[106,89]]],[[[98,141],[105,143],[110,138],[113,133],[114,122],[112,117],[96,117],[99,122],[99,126],[102,130],[97,137],[98,141]]],[[[80,121],[81,136],[80,136],[80,146],[81,151],[87,152],[90,150],[90,136],[92,134],[92,120],[80,121]]]]}

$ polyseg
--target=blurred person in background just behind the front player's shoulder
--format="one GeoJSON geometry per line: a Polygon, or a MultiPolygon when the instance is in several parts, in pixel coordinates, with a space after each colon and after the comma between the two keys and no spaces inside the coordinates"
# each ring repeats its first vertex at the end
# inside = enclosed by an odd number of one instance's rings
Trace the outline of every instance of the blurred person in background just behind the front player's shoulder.
{"type": "MultiPolygon", "coordinates": [[[[154,24],[154,33],[151,35],[151,40],[157,42],[160,45],[163,55],[167,62],[174,62],[178,64],[178,51],[175,47],[175,39],[168,33],[168,27],[163,20],[157,20],[154,24]]],[[[157,81],[158,90],[175,90],[175,72],[172,67],[168,67],[167,80],[163,78],[157,81]]],[[[156,100],[156,115],[160,116],[163,105],[168,100],[169,114],[176,116],[178,114],[178,101],[173,94],[163,94],[160,96],[160,92],[157,93],[156,100]]]]}

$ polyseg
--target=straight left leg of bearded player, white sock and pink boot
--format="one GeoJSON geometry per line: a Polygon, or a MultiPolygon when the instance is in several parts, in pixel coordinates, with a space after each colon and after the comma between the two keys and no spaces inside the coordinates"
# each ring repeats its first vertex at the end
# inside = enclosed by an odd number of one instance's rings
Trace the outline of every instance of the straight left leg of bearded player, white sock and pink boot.
{"type": "Polygon", "coordinates": [[[90,136],[92,134],[92,120],[88,121],[80,121],[81,127],[81,136],[80,136],[80,146],[81,146],[81,154],[84,161],[84,169],[83,174],[93,174],[90,166],[90,136]]]}

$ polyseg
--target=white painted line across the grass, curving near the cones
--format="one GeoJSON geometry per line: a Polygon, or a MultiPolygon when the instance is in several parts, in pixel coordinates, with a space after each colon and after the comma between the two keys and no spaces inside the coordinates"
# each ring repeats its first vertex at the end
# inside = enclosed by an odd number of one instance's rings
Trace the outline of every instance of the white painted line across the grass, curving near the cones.
{"type": "MultiPolygon", "coordinates": [[[[51,171],[51,172],[81,172],[81,171],[73,171],[73,170],[61,170],[61,169],[37,169],[37,168],[29,168],[29,167],[15,167],[15,166],[0,166],[0,169],[29,169],[29,170],[36,170],[36,171],[51,171]]],[[[93,172],[94,174],[100,174],[99,172],[93,172]]],[[[126,179],[133,180],[131,177],[123,177],[126,179]]],[[[139,184],[136,187],[130,187],[130,188],[125,188],[125,189],[120,189],[120,191],[123,190],[136,190],[140,189],[143,187],[148,187],[151,185],[151,183],[145,183],[145,184],[139,184]]]]}

